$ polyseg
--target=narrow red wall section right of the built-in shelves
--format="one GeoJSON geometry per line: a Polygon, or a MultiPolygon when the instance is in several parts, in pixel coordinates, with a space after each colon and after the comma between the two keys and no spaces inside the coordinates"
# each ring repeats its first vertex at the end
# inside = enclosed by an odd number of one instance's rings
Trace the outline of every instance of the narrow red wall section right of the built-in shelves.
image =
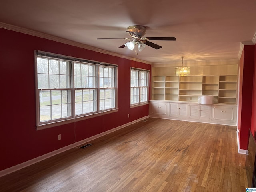
{"type": "Polygon", "coordinates": [[[240,58],[240,92],[238,101],[238,130],[240,149],[247,150],[252,118],[252,91],[254,78],[254,45],[245,45],[240,58]]]}

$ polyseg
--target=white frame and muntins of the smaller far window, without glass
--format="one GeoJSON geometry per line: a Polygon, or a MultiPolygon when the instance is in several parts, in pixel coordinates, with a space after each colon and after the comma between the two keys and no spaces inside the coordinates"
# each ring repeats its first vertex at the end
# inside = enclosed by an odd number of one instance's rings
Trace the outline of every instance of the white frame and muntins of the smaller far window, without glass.
{"type": "Polygon", "coordinates": [[[130,108],[146,105],[146,104],[149,103],[149,77],[150,77],[150,70],[141,69],[141,68],[134,68],[134,67],[130,68],[130,108]],[[138,72],[138,79],[137,79],[138,80],[138,86],[137,86],[137,88],[138,88],[138,92],[139,92],[139,94],[138,94],[138,96],[139,96],[138,101],[139,102],[134,103],[134,104],[131,103],[132,102],[132,100],[131,100],[131,97],[132,97],[131,89],[136,87],[136,86],[132,86],[132,75],[131,75],[132,71],[137,71],[138,72]],[[141,86],[141,72],[147,72],[147,86],[141,86]],[[147,100],[144,101],[144,102],[141,102],[140,101],[141,100],[141,88],[145,88],[145,87],[147,88],[146,89],[147,90],[147,100]]]}

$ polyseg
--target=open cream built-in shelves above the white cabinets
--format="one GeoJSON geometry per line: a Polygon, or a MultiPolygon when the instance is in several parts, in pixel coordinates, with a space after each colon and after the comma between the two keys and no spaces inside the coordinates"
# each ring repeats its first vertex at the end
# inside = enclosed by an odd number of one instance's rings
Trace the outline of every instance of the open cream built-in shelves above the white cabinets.
{"type": "Polygon", "coordinates": [[[236,104],[236,75],[153,76],[152,99],[198,102],[213,95],[218,103],[236,104]]]}

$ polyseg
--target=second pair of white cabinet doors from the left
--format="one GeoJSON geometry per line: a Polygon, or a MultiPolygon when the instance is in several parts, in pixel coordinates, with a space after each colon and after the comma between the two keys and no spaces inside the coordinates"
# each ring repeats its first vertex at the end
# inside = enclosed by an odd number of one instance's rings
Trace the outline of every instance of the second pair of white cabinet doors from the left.
{"type": "Polygon", "coordinates": [[[188,118],[188,104],[170,103],[170,117],[188,118]]]}

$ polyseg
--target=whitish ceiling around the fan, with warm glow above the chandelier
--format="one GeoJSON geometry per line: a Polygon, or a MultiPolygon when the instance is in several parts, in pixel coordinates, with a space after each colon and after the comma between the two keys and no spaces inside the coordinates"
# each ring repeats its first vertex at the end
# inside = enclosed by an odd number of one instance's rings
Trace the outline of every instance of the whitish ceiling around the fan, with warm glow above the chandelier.
{"type": "MultiPolygon", "coordinates": [[[[152,64],[238,60],[241,42],[256,32],[255,0],[1,0],[0,22],[94,46],[152,64]],[[146,26],[152,41],[138,53],[118,48],[128,26],[146,26]]],[[[255,42],[254,42],[255,43],[255,42]]]]}

